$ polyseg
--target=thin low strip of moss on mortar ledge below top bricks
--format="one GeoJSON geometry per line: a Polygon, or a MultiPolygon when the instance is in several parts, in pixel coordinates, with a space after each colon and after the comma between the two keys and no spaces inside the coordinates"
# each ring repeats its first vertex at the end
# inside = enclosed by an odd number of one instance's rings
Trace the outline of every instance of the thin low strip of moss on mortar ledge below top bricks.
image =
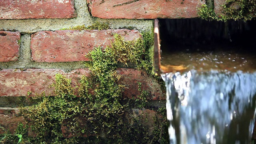
{"type": "Polygon", "coordinates": [[[60,30],[107,30],[109,25],[107,23],[94,22],[91,26],[74,26],[72,28],[62,28],[60,30]]]}

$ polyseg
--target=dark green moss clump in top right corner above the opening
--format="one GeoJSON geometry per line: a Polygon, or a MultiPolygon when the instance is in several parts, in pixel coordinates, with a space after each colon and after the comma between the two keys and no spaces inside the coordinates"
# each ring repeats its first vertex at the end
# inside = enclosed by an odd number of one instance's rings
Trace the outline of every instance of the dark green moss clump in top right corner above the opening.
{"type": "Polygon", "coordinates": [[[223,14],[215,14],[213,6],[203,4],[198,8],[198,16],[205,20],[252,20],[256,16],[256,0],[226,0],[222,5],[223,14]]]}

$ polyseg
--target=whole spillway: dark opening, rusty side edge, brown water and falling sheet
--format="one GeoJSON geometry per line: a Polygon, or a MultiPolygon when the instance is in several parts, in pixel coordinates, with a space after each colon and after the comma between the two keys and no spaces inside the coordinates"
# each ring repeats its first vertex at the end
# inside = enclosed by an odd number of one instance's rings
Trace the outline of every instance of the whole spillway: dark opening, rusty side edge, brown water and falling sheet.
{"type": "Polygon", "coordinates": [[[256,101],[252,23],[160,20],[166,30],[160,28],[160,50],[155,29],[154,68],[166,84],[170,144],[250,142],[256,101]]]}

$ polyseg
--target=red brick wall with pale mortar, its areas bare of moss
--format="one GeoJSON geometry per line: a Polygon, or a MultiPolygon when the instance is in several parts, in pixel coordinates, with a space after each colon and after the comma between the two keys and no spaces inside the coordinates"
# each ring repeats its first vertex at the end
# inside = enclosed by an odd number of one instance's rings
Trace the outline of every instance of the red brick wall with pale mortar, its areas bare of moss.
{"type": "MultiPolygon", "coordinates": [[[[216,1],[216,0],[215,0],[216,1]]],[[[214,1],[214,2],[215,2],[214,1]]],[[[22,118],[16,117],[18,97],[35,96],[45,91],[53,95],[57,73],[72,78],[73,84],[89,70],[80,63],[94,46],[106,47],[112,33],[125,40],[142,37],[153,28],[154,18],[195,18],[205,0],[0,0],[0,132],[13,132],[22,118]],[[61,30],[107,22],[108,30],[61,30]],[[128,30],[129,28],[132,30],[128,30]],[[6,102],[6,103],[5,103],[6,102]],[[12,108],[11,108],[12,107],[12,108]],[[10,111],[11,110],[11,111],[10,111]]],[[[216,10],[220,10],[216,1],[216,10]]],[[[215,3],[214,3],[215,4],[215,3]]],[[[152,76],[134,68],[118,68],[126,85],[124,97],[150,92],[152,105],[164,102],[160,84],[152,76]]],[[[149,113],[155,113],[146,110],[149,113]]]]}

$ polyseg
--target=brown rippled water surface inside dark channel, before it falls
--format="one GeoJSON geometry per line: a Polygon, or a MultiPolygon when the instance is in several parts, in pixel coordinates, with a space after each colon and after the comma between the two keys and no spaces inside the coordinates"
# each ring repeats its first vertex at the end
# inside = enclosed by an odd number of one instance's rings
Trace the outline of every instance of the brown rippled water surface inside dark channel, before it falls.
{"type": "Polygon", "coordinates": [[[256,54],[253,51],[245,50],[242,46],[184,46],[177,50],[175,46],[170,47],[161,54],[161,64],[184,65],[187,70],[197,71],[230,71],[243,72],[256,71],[256,54]],[[174,50],[172,50],[174,49],[174,50]]]}

